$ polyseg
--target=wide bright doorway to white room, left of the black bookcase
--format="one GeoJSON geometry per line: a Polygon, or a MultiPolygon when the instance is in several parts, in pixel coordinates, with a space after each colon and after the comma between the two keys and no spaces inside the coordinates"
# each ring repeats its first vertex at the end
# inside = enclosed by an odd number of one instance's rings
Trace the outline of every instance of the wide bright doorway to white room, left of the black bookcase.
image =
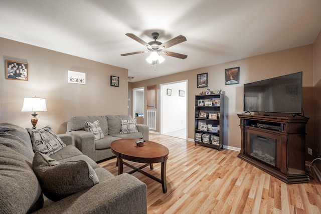
{"type": "Polygon", "coordinates": [[[187,139],[187,80],[159,85],[161,134],[187,139]]]}

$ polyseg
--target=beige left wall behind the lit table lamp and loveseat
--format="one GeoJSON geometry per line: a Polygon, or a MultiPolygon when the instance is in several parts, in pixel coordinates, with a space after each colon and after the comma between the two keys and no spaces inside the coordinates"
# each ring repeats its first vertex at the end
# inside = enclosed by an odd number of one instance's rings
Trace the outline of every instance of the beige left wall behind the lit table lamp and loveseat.
{"type": "Polygon", "coordinates": [[[31,113],[21,112],[24,97],[44,97],[48,112],[38,114],[37,128],[50,125],[66,132],[73,116],[127,114],[127,69],[0,38],[0,122],[32,127],[31,113]],[[7,80],[6,59],[29,63],[29,80],[7,80]],[[68,70],[86,73],[86,85],[67,81],[68,70]],[[119,87],[110,86],[110,75],[119,87]]]}

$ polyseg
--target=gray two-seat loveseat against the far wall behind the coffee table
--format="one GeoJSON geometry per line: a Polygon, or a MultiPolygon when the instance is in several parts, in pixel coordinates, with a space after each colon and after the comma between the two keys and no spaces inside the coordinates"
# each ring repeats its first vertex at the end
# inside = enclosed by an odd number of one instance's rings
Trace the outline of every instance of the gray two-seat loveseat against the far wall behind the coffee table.
{"type": "Polygon", "coordinates": [[[121,134],[121,120],[132,120],[130,115],[78,116],[67,122],[67,134],[73,137],[75,146],[94,161],[115,156],[110,149],[110,143],[124,138],[149,139],[147,125],[136,124],[138,132],[121,134]],[[104,137],[95,140],[93,133],[85,131],[86,122],[98,120],[104,137]]]}

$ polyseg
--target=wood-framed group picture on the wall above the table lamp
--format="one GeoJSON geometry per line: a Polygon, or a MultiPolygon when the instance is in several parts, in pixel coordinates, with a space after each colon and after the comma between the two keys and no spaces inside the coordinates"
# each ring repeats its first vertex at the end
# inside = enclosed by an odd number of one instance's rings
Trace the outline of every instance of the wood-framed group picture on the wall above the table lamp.
{"type": "Polygon", "coordinates": [[[28,74],[28,63],[6,60],[6,79],[28,81],[28,74]]]}

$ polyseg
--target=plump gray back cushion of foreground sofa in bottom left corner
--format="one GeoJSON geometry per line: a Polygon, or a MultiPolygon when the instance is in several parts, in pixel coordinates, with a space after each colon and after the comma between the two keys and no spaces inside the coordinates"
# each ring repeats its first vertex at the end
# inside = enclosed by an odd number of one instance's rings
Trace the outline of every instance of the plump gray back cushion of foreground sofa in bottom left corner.
{"type": "Polygon", "coordinates": [[[28,213],[42,207],[43,196],[32,163],[0,144],[0,212],[28,213]]]}

